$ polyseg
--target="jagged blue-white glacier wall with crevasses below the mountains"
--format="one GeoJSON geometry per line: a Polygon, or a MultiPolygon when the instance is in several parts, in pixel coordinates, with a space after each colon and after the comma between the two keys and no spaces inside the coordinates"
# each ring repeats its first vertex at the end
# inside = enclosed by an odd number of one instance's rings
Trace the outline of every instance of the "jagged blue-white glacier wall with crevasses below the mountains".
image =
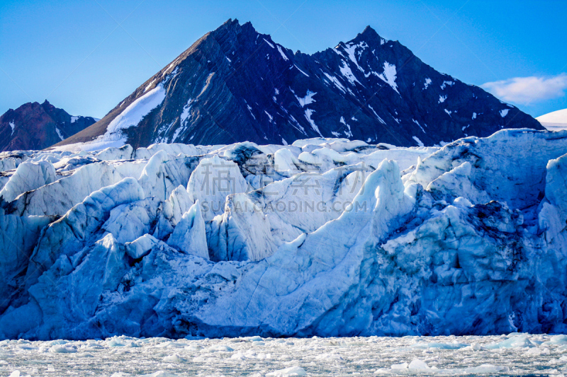
{"type": "Polygon", "coordinates": [[[0,168],[2,339],[567,333],[567,132],[0,168]]]}

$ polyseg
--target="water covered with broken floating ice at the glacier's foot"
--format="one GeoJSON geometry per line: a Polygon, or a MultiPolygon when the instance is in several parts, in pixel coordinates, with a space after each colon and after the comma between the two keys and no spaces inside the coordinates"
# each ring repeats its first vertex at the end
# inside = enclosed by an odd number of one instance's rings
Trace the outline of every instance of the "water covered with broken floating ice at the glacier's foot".
{"type": "Polygon", "coordinates": [[[2,376],[549,376],[563,335],[167,340],[111,337],[0,343],[2,376]]]}

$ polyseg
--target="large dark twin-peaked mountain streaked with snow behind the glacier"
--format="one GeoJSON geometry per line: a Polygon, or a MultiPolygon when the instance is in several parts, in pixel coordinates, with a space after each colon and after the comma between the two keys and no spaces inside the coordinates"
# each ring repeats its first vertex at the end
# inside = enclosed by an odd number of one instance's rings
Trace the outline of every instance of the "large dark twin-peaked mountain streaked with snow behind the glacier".
{"type": "Polygon", "coordinates": [[[229,20],[58,145],[286,144],[343,137],[398,146],[503,128],[543,129],[477,86],[435,71],[370,27],[315,54],[293,53],[229,20]]]}

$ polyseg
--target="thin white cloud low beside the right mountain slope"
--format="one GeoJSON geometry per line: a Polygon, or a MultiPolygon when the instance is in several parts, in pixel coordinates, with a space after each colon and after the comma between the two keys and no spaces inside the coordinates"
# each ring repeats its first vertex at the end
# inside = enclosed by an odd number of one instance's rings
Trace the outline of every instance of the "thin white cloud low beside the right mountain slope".
{"type": "Polygon", "coordinates": [[[481,88],[505,102],[528,104],[563,97],[567,89],[567,74],[552,77],[515,77],[483,83],[481,88]]]}

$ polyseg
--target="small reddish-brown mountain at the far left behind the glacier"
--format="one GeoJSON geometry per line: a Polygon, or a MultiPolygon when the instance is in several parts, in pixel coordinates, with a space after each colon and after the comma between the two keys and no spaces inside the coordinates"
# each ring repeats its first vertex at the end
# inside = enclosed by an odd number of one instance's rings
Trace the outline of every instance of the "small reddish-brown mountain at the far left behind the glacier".
{"type": "Polygon", "coordinates": [[[93,117],[72,117],[47,100],[42,104],[24,103],[0,117],[0,151],[45,149],[94,122],[93,117]]]}

